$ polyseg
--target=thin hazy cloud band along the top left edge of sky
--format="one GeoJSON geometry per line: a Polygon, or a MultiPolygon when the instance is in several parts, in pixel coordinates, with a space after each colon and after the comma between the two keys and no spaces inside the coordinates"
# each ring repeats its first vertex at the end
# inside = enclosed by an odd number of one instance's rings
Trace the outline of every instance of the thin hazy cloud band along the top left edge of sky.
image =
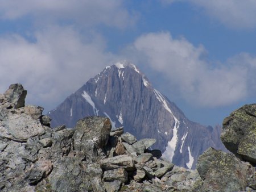
{"type": "Polygon", "coordinates": [[[23,16],[35,19],[38,26],[61,21],[86,27],[105,24],[125,28],[136,20],[122,0],[0,0],[0,18],[14,20],[23,16]]]}

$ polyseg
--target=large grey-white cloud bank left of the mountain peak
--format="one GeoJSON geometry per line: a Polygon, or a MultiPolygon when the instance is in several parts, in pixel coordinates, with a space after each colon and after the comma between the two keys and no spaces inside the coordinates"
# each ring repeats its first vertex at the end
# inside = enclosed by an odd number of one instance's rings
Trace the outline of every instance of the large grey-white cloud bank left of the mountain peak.
{"type": "Polygon", "coordinates": [[[35,42],[19,35],[0,37],[0,93],[11,83],[28,90],[27,103],[47,110],[67,97],[112,61],[101,36],[84,40],[70,27],[36,32],[35,42]]]}

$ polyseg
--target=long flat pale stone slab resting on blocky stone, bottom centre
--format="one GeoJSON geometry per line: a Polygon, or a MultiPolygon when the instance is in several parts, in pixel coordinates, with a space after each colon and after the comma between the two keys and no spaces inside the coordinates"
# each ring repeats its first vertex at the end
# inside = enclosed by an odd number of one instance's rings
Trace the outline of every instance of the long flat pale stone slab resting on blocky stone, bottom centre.
{"type": "Polygon", "coordinates": [[[133,158],[129,155],[119,155],[101,160],[101,168],[110,170],[125,168],[126,170],[134,170],[135,164],[133,158]]]}

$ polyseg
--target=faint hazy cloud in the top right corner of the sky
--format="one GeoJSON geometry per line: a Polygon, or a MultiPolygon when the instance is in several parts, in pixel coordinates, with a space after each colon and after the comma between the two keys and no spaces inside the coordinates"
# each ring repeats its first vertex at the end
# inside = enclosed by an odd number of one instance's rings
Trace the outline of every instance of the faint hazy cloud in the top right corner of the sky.
{"type": "Polygon", "coordinates": [[[161,0],[163,3],[189,2],[201,7],[205,14],[232,28],[256,27],[255,0],[161,0]]]}

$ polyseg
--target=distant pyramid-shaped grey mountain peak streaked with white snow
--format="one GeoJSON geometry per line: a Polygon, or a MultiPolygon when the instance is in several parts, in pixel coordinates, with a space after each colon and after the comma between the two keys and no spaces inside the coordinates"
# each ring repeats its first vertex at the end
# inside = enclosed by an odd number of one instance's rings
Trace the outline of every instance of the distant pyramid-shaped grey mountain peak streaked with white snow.
{"type": "Polygon", "coordinates": [[[155,138],[152,148],[185,168],[194,169],[197,157],[209,147],[225,149],[220,127],[191,122],[175,103],[152,87],[137,66],[127,62],[106,67],[48,115],[52,127],[74,127],[85,116],[106,116],[113,128],[123,127],[138,139],[155,138]]]}

